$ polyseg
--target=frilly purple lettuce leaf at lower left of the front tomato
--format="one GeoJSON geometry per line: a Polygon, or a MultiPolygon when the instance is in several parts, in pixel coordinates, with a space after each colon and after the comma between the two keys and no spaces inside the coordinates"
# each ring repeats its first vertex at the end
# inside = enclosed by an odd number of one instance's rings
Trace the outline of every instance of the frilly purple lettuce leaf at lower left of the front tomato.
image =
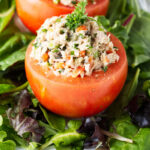
{"type": "Polygon", "coordinates": [[[44,128],[39,126],[35,118],[25,114],[31,105],[29,93],[27,90],[23,90],[14,108],[7,110],[7,116],[18,135],[24,137],[27,141],[39,142],[44,134],[44,128]]]}

